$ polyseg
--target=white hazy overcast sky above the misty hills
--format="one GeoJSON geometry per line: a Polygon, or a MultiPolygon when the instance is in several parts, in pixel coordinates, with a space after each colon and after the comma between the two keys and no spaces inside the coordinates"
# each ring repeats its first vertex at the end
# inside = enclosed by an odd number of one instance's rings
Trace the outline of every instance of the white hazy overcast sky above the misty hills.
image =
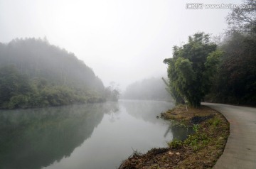
{"type": "Polygon", "coordinates": [[[166,75],[172,46],[198,31],[223,33],[230,9],[186,9],[187,3],[240,0],[0,0],[0,42],[47,37],[92,67],[105,86],[166,75]]]}

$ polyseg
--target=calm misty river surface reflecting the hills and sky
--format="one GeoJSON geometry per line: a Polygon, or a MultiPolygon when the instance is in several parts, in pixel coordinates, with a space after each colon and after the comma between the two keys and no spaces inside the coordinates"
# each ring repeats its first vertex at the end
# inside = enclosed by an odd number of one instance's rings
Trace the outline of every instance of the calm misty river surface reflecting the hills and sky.
{"type": "Polygon", "coordinates": [[[119,101],[0,111],[0,168],[112,169],[190,132],[156,119],[170,102],[119,101]]]}

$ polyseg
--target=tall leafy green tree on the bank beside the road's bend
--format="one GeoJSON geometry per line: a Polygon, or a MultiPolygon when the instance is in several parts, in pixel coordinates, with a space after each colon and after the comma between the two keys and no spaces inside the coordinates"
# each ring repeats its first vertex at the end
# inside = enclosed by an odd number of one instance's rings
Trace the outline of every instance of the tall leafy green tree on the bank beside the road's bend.
{"type": "Polygon", "coordinates": [[[208,34],[195,33],[185,45],[174,46],[173,58],[164,60],[168,65],[169,89],[177,103],[183,100],[192,107],[201,106],[201,99],[210,90],[214,73],[211,69],[222,55],[216,48],[208,34]]]}

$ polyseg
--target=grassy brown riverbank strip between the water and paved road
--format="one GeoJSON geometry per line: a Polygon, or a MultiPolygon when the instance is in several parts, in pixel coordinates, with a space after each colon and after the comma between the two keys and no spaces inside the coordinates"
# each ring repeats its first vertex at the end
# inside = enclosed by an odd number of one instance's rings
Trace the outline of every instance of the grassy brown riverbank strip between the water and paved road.
{"type": "Polygon", "coordinates": [[[126,168],[212,168],[223,153],[229,124],[222,114],[209,107],[178,106],[161,114],[164,119],[193,127],[195,133],[184,141],[171,141],[167,148],[153,148],[146,154],[134,152],[119,166],[126,168]]]}

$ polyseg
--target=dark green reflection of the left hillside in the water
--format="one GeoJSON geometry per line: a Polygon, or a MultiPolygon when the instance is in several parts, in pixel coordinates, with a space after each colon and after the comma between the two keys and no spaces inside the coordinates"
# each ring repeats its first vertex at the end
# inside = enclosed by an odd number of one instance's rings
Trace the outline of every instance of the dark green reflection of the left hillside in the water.
{"type": "Polygon", "coordinates": [[[1,111],[0,168],[41,168],[68,157],[112,104],[1,111]]]}

